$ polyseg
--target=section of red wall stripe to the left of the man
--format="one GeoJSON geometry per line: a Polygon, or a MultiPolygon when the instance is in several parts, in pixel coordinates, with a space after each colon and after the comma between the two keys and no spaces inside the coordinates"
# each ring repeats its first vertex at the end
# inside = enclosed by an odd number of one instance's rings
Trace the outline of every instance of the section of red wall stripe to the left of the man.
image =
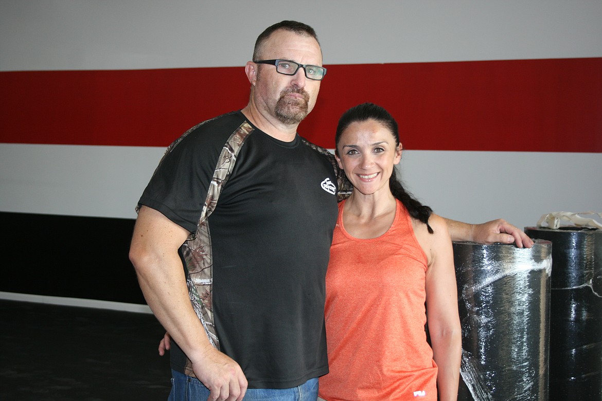
{"type": "Polygon", "coordinates": [[[248,86],[240,67],[1,72],[0,141],[164,146],[246,104],[248,86]]]}

